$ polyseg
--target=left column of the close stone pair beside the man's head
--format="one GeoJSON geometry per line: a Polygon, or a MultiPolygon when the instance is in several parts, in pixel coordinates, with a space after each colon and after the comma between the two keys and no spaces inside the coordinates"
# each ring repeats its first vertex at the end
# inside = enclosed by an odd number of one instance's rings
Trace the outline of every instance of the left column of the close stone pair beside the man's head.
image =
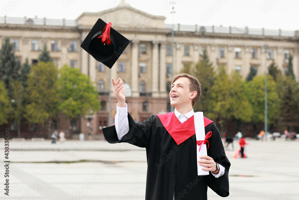
{"type": "Polygon", "coordinates": [[[159,49],[158,41],[152,41],[152,97],[159,97],[159,49]]]}

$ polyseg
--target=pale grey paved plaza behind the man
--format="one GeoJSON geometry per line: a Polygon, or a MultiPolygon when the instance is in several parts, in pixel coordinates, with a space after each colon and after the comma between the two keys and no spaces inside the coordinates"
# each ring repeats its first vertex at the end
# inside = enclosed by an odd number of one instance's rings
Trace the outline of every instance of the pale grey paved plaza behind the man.
{"type": "MultiPolygon", "coordinates": [[[[209,189],[208,199],[298,200],[299,141],[247,142],[246,159],[233,158],[237,141],[234,151],[226,152],[231,162],[230,196],[222,198],[209,189]]],[[[4,141],[0,147],[4,149],[4,141]]],[[[126,143],[10,140],[9,196],[4,195],[4,155],[1,160],[0,199],[139,200],[145,196],[146,151],[126,143]]]]}

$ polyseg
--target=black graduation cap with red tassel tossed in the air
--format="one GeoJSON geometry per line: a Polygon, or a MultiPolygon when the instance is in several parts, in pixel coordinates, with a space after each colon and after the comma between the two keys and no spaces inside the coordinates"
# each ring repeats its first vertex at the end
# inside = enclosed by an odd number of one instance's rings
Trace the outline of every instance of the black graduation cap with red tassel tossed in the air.
{"type": "Polygon", "coordinates": [[[111,28],[112,23],[106,24],[98,19],[84,39],[81,47],[94,59],[111,69],[130,41],[111,28]]]}

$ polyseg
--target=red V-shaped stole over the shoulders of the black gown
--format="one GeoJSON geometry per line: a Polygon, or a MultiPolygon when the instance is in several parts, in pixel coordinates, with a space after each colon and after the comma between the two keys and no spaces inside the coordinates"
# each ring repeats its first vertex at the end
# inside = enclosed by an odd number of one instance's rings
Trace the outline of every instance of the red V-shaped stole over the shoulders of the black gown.
{"type": "MultiPolygon", "coordinates": [[[[181,144],[195,134],[194,116],[187,119],[187,121],[184,123],[179,121],[174,112],[168,112],[157,116],[177,145],[181,144]]],[[[212,120],[204,117],[205,127],[212,122],[212,120]]]]}

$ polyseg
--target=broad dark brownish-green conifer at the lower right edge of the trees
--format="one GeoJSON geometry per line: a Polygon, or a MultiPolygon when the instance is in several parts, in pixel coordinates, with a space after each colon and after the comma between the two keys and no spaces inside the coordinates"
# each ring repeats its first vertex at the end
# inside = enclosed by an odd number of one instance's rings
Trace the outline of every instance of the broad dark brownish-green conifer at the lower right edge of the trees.
{"type": "Polygon", "coordinates": [[[279,121],[283,127],[299,124],[299,90],[298,83],[291,76],[283,79],[280,93],[279,121]]]}

